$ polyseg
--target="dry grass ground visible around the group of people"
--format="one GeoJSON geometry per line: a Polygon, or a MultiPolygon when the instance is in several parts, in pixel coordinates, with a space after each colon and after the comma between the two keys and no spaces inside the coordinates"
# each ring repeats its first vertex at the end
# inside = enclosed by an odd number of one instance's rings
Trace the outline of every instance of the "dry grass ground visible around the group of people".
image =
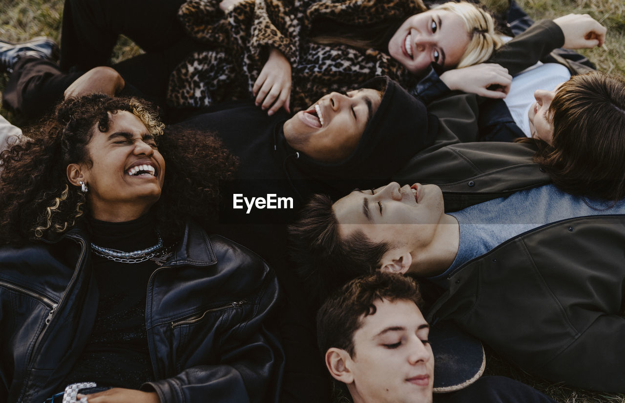
{"type": "MultiPolygon", "coordinates": [[[[497,0],[484,0],[497,1],[497,0]]],[[[587,13],[608,28],[606,46],[581,51],[595,62],[597,69],[625,77],[625,2],[623,0],[517,0],[535,20],[553,18],[569,12],[587,13]]],[[[63,0],[0,0],[0,39],[21,42],[35,36],[60,40],[63,0]]],[[[139,52],[133,42],[122,38],[118,42],[113,61],[123,60],[139,52]]],[[[6,74],[0,74],[0,91],[6,85],[6,74]]],[[[3,116],[14,121],[10,112],[3,116]]],[[[19,122],[17,122],[19,124],[19,122]]],[[[511,366],[496,354],[488,352],[487,374],[500,374],[519,379],[566,403],[625,403],[625,396],[582,391],[551,384],[529,376],[511,366]]],[[[579,363],[580,366],[584,364],[579,363]]]]}

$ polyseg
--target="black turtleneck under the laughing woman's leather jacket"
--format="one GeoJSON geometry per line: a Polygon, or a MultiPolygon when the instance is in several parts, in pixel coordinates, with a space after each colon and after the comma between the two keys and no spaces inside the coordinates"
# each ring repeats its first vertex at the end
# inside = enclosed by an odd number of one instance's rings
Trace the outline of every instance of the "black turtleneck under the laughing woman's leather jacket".
{"type": "MultiPolygon", "coordinates": [[[[129,222],[89,219],[91,242],[109,249],[132,252],[158,241],[153,216],[129,222]]],[[[121,263],[92,252],[93,274],[98,284],[98,313],[88,344],[59,390],[74,382],[139,389],[153,380],[146,338],[148,281],[157,268],[151,260],[121,263]]]]}

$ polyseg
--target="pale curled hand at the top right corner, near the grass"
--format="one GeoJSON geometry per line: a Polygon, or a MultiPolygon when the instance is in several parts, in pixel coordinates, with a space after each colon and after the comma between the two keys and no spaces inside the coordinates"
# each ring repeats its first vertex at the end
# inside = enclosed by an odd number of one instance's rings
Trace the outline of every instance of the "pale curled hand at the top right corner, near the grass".
{"type": "Polygon", "coordinates": [[[553,20],[564,34],[564,48],[582,49],[601,46],[606,40],[607,28],[588,14],[568,14],[553,20]]]}

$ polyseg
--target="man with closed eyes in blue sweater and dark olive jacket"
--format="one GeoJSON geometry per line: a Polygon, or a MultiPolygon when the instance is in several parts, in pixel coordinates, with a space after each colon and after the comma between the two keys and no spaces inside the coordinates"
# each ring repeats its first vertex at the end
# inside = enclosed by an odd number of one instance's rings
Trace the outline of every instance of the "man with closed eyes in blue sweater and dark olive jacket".
{"type": "Polygon", "coordinates": [[[567,194],[537,164],[504,171],[515,169],[542,186],[495,170],[334,204],[317,195],[291,227],[292,256],[326,289],[377,269],[425,277],[439,296],[429,320],[456,322],[536,376],[623,392],[625,200],[567,194]]]}

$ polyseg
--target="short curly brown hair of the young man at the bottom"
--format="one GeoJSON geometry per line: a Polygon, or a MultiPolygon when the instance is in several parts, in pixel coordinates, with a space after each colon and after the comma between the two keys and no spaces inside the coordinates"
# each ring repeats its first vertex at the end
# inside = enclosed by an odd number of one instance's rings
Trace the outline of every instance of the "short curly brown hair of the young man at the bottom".
{"type": "Polygon", "coordinates": [[[376,313],[375,301],[412,301],[421,308],[417,283],[401,274],[376,271],[354,279],[335,292],[317,312],[317,344],[325,354],[336,347],[354,356],[354,333],[362,319],[376,313]]]}

